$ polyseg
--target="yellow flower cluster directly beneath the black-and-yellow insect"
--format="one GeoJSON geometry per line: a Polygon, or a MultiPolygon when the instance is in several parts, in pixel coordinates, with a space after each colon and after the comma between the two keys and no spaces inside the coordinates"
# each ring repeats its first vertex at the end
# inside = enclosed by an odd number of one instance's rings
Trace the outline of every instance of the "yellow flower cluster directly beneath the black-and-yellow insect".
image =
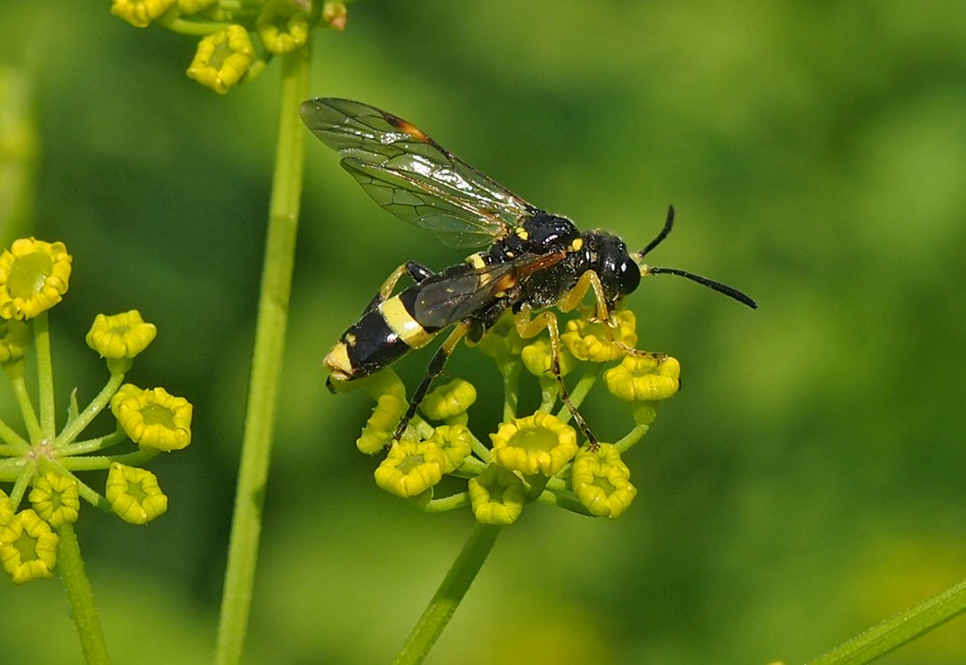
{"type": "Polygon", "coordinates": [[[601,374],[618,403],[630,402],[630,429],[616,443],[588,440],[570,425],[573,414],[552,372],[550,336],[521,338],[507,314],[474,345],[496,361],[506,387],[504,420],[486,429],[488,437],[478,438],[469,426],[476,389],[455,378],[426,395],[396,440],[409,402],[402,382],[386,369],[355,382],[376,400],[356,445],[368,455],[388,448],[376,469],[376,484],[428,512],[469,506],[480,522],[511,524],[526,504],[541,501],[576,513],[618,517],[637,494],[621,454],[649,429],[655,402],[673,396],[680,386],[678,362],[636,349],[635,328],[634,313],[618,310],[607,322],[589,316],[567,320],[560,335],[560,374],[567,382],[579,376],[567,388],[575,408],[601,374]],[[537,409],[526,415],[516,413],[521,369],[537,379],[542,396],[537,409]],[[465,489],[456,485],[453,491],[453,482],[443,483],[447,476],[460,479],[465,489]]]}

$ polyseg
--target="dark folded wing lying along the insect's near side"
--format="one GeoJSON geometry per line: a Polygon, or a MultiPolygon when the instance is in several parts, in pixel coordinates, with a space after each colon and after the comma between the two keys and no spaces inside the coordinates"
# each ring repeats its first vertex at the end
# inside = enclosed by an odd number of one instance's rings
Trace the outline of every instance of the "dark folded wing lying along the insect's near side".
{"type": "Polygon", "coordinates": [[[527,276],[565,257],[564,252],[527,255],[431,281],[420,289],[413,314],[423,325],[440,328],[466,319],[489,305],[497,294],[510,291],[527,276]]]}

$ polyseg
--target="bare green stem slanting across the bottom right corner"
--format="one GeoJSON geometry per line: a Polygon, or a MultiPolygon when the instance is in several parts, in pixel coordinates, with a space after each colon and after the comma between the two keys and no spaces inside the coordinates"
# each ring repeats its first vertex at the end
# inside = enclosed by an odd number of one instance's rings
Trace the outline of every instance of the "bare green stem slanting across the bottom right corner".
{"type": "Polygon", "coordinates": [[[966,612],[966,579],[856,635],[809,665],[860,665],[898,649],[966,612]]]}

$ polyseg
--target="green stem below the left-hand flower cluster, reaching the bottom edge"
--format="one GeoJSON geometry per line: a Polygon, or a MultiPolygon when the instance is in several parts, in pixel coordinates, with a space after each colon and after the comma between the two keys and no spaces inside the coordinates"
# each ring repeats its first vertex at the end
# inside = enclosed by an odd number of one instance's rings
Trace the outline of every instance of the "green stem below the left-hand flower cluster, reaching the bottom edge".
{"type": "Polygon", "coordinates": [[[57,530],[57,533],[60,536],[57,568],[60,570],[64,589],[71,602],[71,615],[74,625],[77,626],[84,659],[88,665],[109,663],[107,644],[100,630],[98,608],[94,604],[94,594],[91,591],[91,580],[87,577],[84,560],[80,557],[80,545],[73,532],[73,525],[65,524],[57,530]]]}

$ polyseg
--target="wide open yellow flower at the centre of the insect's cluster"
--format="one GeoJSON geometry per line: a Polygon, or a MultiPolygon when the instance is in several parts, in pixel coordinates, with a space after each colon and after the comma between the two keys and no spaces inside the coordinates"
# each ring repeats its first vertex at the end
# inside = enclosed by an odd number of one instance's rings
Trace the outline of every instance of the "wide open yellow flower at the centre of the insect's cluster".
{"type": "Polygon", "coordinates": [[[493,440],[493,460],[527,476],[553,476],[577,454],[577,431],[555,416],[537,411],[502,423],[493,440]]]}

